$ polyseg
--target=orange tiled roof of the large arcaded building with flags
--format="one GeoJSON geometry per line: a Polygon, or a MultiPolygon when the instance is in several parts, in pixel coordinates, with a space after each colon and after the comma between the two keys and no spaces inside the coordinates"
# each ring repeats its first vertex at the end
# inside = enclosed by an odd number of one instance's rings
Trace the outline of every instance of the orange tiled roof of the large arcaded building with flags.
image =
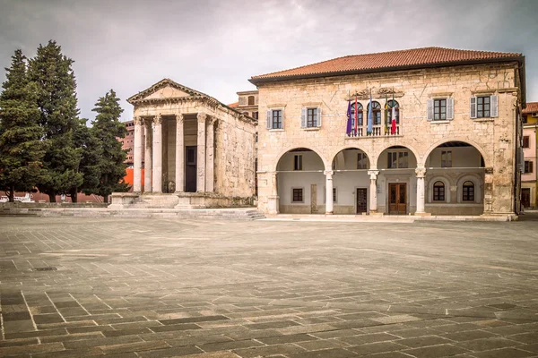
{"type": "Polygon", "coordinates": [[[421,68],[431,65],[481,63],[499,60],[521,60],[522,55],[508,52],[458,50],[443,47],[423,47],[401,51],[380,52],[366,55],[347,55],[308,64],[291,70],[252,76],[252,83],[278,81],[285,78],[309,78],[321,75],[339,75],[355,72],[382,72],[387,70],[421,68]]]}

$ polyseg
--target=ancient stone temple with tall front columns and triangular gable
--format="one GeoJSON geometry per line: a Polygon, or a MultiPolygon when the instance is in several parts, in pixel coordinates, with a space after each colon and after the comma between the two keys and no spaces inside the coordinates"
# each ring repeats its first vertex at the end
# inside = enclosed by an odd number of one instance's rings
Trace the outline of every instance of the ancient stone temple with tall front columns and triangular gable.
{"type": "Polygon", "coordinates": [[[252,203],[255,120],[169,79],[127,101],[134,106],[133,192],[114,193],[110,208],[252,203]]]}

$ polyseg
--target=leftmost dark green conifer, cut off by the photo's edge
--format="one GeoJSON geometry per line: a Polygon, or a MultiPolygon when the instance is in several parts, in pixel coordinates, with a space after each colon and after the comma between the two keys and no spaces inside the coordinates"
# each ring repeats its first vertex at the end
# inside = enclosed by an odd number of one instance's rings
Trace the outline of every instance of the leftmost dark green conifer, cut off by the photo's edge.
{"type": "Polygon", "coordinates": [[[45,153],[37,87],[28,79],[25,60],[16,50],[0,94],[0,187],[10,202],[15,191],[29,192],[39,181],[45,153]]]}

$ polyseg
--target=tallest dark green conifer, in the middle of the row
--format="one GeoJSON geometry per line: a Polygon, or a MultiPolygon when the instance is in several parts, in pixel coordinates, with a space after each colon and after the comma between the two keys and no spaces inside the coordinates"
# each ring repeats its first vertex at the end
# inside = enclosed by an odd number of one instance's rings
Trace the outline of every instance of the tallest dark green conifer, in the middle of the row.
{"type": "Polygon", "coordinates": [[[72,64],[53,40],[39,45],[37,55],[30,59],[29,78],[38,85],[40,125],[48,144],[38,188],[51,202],[56,202],[56,194],[69,193],[82,184],[78,171],[82,149],[74,146],[80,121],[72,64]]]}

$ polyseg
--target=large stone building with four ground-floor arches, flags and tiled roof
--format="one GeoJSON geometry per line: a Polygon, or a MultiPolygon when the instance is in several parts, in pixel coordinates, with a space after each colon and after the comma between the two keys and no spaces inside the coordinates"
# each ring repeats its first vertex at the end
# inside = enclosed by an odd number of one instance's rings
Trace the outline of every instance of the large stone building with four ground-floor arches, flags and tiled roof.
{"type": "Polygon", "coordinates": [[[249,81],[263,114],[257,173],[265,213],[518,210],[521,54],[427,47],[249,81]]]}

